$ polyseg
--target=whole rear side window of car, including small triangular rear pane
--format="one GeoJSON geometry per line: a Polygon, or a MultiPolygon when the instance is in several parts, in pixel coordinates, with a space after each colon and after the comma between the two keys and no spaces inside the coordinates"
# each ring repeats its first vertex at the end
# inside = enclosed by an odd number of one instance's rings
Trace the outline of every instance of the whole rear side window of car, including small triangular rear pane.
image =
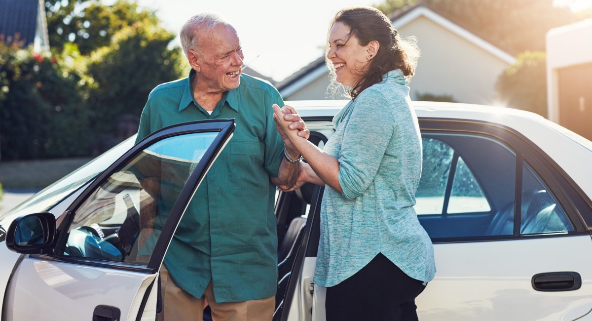
{"type": "Polygon", "coordinates": [[[505,142],[471,133],[422,133],[422,138],[422,178],[414,208],[432,239],[575,230],[541,176],[505,142]]]}

